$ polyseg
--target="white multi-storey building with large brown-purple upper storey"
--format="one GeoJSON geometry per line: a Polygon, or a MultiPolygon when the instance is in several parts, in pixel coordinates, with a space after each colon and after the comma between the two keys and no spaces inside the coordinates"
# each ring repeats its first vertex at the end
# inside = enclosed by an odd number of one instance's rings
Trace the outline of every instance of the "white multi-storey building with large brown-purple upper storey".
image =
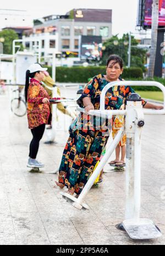
{"type": "Polygon", "coordinates": [[[28,33],[30,38],[42,40],[42,56],[55,50],[78,57],[81,35],[101,35],[102,41],[111,38],[112,10],[73,9],[66,15],[50,15],[34,20],[34,28],[28,33]]]}

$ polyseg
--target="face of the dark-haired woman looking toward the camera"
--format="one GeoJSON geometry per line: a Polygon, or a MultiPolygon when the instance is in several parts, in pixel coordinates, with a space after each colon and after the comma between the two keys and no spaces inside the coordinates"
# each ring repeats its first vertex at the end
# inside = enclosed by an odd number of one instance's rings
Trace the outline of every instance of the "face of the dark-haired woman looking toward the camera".
{"type": "Polygon", "coordinates": [[[107,79],[110,81],[117,81],[119,76],[122,74],[123,69],[121,69],[119,63],[115,63],[115,60],[109,61],[109,64],[107,66],[106,72],[107,72],[107,79]]]}

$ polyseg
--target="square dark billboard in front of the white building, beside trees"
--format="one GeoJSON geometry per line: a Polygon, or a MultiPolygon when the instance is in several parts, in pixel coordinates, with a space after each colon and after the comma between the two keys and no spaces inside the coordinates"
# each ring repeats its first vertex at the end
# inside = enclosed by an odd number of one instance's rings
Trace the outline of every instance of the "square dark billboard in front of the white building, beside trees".
{"type": "Polygon", "coordinates": [[[102,36],[81,35],[80,59],[100,60],[102,58],[102,36]]]}

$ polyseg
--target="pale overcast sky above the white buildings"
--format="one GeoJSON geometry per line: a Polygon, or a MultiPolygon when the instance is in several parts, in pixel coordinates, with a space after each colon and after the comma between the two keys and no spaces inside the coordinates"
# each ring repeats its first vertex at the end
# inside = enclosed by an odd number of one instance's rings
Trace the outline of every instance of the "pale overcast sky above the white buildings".
{"type": "Polygon", "coordinates": [[[65,14],[74,8],[112,9],[112,34],[122,36],[129,31],[135,32],[138,0],[5,0],[0,8],[26,10],[32,18],[65,14]]]}

